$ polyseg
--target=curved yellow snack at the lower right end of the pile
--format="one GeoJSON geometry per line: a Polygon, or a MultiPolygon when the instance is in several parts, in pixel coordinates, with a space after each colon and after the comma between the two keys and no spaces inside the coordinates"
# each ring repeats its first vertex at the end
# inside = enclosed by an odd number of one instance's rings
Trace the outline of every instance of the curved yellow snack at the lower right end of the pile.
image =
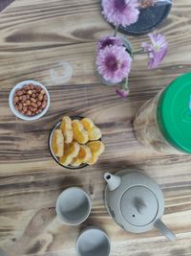
{"type": "Polygon", "coordinates": [[[87,161],[87,164],[93,165],[98,160],[99,155],[105,150],[105,146],[101,141],[91,141],[87,145],[92,151],[92,158],[87,161]]]}

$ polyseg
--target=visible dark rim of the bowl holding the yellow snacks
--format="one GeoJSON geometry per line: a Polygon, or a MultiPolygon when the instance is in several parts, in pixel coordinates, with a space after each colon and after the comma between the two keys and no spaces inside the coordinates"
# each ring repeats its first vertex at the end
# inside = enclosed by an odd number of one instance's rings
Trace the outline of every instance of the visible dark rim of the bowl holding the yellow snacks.
{"type": "MultiPolygon", "coordinates": [[[[74,120],[74,119],[82,119],[83,117],[81,116],[72,116],[71,119],[74,120]]],[[[68,166],[65,166],[65,165],[62,165],[59,161],[58,161],[58,158],[54,155],[53,151],[52,151],[52,138],[53,138],[53,131],[58,128],[61,124],[61,121],[57,122],[53,128],[51,129],[50,131],[50,134],[49,134],[49,141],[48,141],[48,147],[49,147],[49,151],[51,152],[51,155],[53,156],[53,159],[54,161],[59,164],[60,166],[64,167],[64,168],[67,168],[67,169],[82,169],[86,166],[88,166],[88,164],[81,164],[80,166],[78,167],[74,167],[74,166],[71,166],[71,165],[68,165],[68,166]]]]}

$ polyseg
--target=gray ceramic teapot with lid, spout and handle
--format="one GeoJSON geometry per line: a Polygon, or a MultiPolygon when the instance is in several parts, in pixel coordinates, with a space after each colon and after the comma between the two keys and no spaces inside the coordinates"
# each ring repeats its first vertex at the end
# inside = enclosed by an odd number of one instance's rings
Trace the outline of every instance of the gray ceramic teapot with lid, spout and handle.
{"type": "Polygon", "coordinates": [[[106,173],[105,204],[108,213],[124,230],[142,233],[154,226],[169,240],[176,239],[160,220],[164,213],[164,198],[159,185],[139,170],[106,173]]]}

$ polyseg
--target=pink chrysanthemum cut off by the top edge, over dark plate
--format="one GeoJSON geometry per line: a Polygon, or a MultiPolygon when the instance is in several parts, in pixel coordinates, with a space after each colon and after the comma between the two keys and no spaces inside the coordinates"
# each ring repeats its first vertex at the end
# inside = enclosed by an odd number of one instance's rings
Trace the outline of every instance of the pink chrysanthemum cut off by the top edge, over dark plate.
{"type": "Polygon", "coordinates": [[[103,15],[115,26],[129,26],[138,20],[138,0],[102,0],[103,15]]]}

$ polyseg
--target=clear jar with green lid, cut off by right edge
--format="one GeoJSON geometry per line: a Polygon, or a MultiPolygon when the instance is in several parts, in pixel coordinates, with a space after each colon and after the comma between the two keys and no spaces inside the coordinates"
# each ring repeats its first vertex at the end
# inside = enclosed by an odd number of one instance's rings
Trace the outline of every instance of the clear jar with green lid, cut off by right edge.
{"type": "Polygon", "coordinates": [[[191,153],[191,73],[173,81],[138,109],[138,142],[155,151],[191,153]]]}

